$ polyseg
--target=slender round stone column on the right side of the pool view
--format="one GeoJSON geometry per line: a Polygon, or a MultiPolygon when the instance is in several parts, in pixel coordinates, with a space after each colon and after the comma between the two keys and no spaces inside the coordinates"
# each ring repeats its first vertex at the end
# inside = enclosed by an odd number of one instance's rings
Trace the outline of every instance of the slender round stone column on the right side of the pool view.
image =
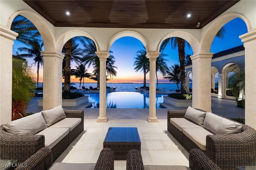
{"type": "Polygon", "coordinates": [[[158,122],[156,117],[156,58],[160,52],[149,51],[149,117],[148,122],[158,122]]]}

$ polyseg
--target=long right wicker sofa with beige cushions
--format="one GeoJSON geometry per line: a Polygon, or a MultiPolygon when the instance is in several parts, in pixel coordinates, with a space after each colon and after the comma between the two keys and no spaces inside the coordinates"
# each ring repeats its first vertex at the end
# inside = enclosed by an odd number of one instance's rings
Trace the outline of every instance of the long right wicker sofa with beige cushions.
{"type": "Polygon", "coordinates": [[[188,107],[169,110],[167,128],[188,152],[202,150],[221,169],[256,165],[256,131],[247,125],[188,107]],[[186,116],[189,111],[194,111],[192,117],[186,116]]]}

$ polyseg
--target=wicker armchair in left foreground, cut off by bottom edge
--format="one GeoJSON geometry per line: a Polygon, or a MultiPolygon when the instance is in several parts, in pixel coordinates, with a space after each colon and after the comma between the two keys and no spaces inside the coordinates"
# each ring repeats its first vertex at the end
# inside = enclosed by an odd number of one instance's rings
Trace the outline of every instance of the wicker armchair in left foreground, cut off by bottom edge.
{"type": "Polygon", "coordinates": [[[15,170],[114,170],[114,152],[110,148],[103,148],[97,162],[92,164],[52,164],[52,151],[41,148],[15,170]]]}

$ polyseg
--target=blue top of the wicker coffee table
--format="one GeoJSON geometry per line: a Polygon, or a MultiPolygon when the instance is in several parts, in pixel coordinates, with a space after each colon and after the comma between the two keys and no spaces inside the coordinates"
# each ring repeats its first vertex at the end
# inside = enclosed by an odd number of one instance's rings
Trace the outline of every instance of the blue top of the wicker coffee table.
{"type": "Polygon", "coordinates": [[[140,142],[136,127],[109,127],[104,142],[140,142]]]}

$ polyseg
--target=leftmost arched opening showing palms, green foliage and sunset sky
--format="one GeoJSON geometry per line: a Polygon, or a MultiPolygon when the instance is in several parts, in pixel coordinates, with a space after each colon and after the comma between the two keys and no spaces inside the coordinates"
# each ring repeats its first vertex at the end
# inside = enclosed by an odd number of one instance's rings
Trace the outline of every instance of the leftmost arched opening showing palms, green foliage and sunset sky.
{"type": "Polygon", "coordinates": [[[12,120],[26,116],[32,97],[42,92],[44,42],[37,27],[26,17],[17,15],[11,30],[19,36],[12,49],[12,120]]]}

